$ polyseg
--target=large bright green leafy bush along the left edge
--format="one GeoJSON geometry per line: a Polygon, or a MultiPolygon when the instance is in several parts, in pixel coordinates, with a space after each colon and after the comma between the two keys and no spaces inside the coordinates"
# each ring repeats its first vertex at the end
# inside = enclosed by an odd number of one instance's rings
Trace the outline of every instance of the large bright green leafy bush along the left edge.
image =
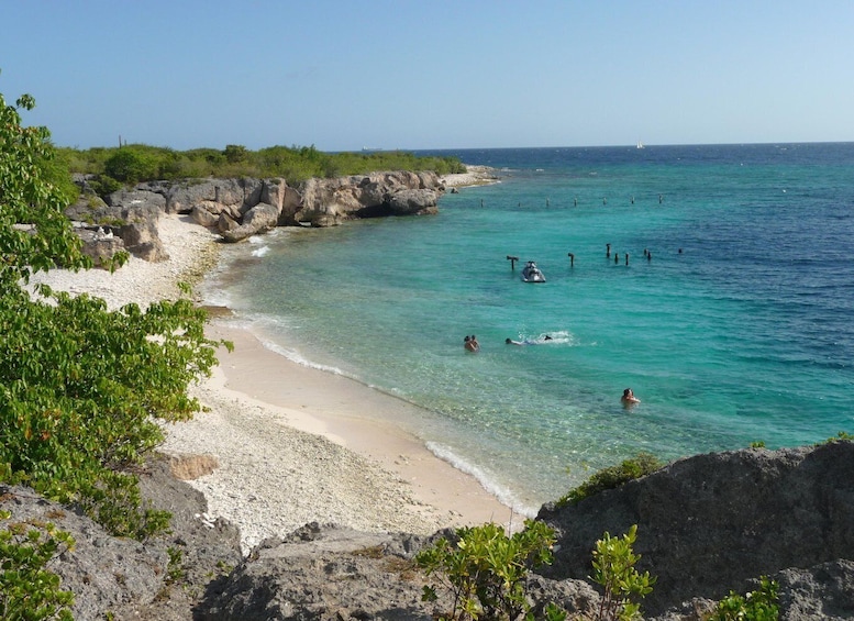
{"type": "Polygon", "coordinates": [[[76,503],[111,533],[143,539],[168,515],[140,499],[134,469],[162,440],[156,419],[200,409],[190,381],[210,374],[206,313],[188,300],[108,311],[102,300],[24,289],[56,265],[87,268],[49,181],[45,127],[21,125],[0,95],[0,483],[76,503]]]}

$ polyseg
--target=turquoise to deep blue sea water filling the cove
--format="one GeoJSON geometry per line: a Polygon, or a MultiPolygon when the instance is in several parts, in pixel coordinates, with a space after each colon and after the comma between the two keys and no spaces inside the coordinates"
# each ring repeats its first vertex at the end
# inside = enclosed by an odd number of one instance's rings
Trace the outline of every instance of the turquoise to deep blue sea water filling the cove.
{"type": "Polygon", "coordinates": [[[640,451],[854,432],[854,144],[450,153],[501,181],[229,246],[208,296],[528,513],[640,451]]]}

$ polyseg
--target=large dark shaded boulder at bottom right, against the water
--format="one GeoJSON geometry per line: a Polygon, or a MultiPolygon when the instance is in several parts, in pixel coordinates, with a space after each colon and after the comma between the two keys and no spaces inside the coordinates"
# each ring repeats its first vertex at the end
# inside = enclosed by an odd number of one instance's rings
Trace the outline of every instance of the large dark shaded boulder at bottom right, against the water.
{"type": "MultiPolygon", "coordinates": [[[[637,524],[637,567],[658,576],[644,610],[718,600],[748,590],[761,575],[854,559],[854,443],[679,459],[576,504],[546,506],[537,519],[558,532],[545,576],[584,578],[602,532],[620,535],[637,524]]],[[[847,567],[810,573],[832,580],[847,567]]],[[[853,590],[834,596],[850,611],[853,590]]]]}

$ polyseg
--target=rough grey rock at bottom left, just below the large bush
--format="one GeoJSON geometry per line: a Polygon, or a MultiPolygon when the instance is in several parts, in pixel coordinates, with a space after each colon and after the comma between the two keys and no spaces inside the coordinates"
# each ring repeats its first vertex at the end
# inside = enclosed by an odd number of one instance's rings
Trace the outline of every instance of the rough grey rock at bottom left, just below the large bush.
{"type": "Polygon", "coordinates": [[[74,592],[75,619],[103,619],[108,613],[114,619],[191,619],[193,597],[188,591],[215,589],[223,568],[240,562],[237,529],[224,520],[204,520],[204,497],[171,477],[167,459],[148,464],[141,491],[157,508],[173,512],[171,534],[144,543],[110,536],[73,508],[29,488],[0,485],[0,510],[11,512],[11,523],[27,529],[53,523],[74,537],[75,550],[59,554],[48,568],[62,577],[63,590],[74,592]],[[169,565],[169,550],[179,558],[177,566],[169,565]]]}

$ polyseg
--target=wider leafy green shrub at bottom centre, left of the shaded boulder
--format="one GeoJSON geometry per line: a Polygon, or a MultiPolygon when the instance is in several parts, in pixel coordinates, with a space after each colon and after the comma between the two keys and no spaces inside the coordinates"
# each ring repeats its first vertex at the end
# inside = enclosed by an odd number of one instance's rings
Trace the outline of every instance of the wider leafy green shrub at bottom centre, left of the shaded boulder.
{"type": "MultiPolygon", "coordinates": [[[[524,594],[529,570],[552,563],[554,531],[543,522],[525,521],[523,531],[508,536],[498,524],[462,528],[457,542],[440,539],[415,556],[428,576],[436,575],[453,598],[448,619],[515,619],[530,610],[524,594]]],[[[423,599],[437,599],[435,586],[423,599]]],[[[555,607],[554,619],[558,619],[555,607]]]]}

